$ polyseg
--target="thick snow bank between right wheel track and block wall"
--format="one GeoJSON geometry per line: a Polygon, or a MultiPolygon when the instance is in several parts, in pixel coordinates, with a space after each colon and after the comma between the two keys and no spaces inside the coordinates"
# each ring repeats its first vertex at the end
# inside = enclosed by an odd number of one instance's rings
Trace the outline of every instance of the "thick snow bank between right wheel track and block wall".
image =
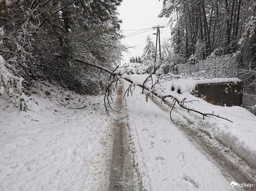
{"type": "Polygon", "coordinates": [[[200,104],[194,102],[193,105],[201,112],[214,112],[214,114],[227,118],[233,123],[213,116],[202,120],[202,116],[188,113],[181,108],[177,111],[191,123],[201,127],[212,138],[214,137],[221,144],[229,147],[253,168],[256,168],[256,117],[239,106],[221,107],[211,105],[203,100],[200,101],[200,104]]]}

